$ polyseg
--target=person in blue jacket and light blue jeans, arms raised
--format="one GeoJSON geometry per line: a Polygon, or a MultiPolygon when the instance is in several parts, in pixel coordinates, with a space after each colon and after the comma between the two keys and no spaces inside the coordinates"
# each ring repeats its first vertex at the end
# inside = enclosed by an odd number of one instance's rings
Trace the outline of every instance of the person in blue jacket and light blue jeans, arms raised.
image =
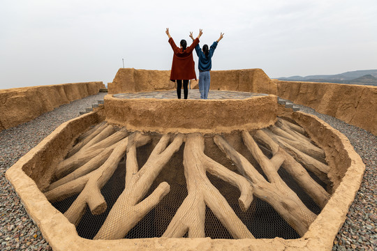
{"type": "MultiPolygon", "coordinates": [[[[208,98],[209,84],[211,82],[209,71],[212,68],[212,56],[214,55],[214,50],[216,49],[217,44],[223,39],[223,36],[224,33],[220,33],[220,38],[214,41],[209,50],[208,45],[203,45],[203,49],[200,49],[199,44],[195,46],[195,52],[199,58],[199,91],[201,99],[208,98]]],[[[190,38],[194,40],[192,32],[190,32],[190,38]]]]}

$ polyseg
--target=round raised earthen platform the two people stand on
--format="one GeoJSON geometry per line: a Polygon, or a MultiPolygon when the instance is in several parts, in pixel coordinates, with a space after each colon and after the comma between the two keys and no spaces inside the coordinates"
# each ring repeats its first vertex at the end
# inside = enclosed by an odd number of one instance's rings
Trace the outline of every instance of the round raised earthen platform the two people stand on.
{"type": "Polygon", "coordinates": [[[177,99],[176,91],[110,94],[104,100],[109,123],[160,133],[265,128],[277,111],[276,96],[237,91],[210,91],[208,100],[198,90],[189,90],[187,100],[177,99]]]}

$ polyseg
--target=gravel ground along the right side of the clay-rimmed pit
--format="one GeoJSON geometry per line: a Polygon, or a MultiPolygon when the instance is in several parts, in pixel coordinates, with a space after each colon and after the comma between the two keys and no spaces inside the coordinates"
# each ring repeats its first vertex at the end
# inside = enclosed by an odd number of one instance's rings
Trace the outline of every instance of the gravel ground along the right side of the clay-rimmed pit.
{"type": "Polygon", "coordinates": [[[319,114],[310,107],[297,106],[301,112],[318,116],[332,128],[346,135],[365,164],[360,189],[350,206],[343,227],[334,240],[332,250],[377,251],[377,137],[332,116],[319,114]]]}

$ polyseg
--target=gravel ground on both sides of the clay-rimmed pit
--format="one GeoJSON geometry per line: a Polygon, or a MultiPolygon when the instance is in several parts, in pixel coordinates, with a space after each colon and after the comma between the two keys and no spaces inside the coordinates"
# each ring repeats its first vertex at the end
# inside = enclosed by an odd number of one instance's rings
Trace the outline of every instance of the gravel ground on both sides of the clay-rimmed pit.
{"type": "MultiPolygon", "coordinates": [[[[0,132],[0,250],[52,250],[6,181],[5,172],[57,126],[79,116],[80,111],[102,100],[105,94],[98,93],[73,101],[33,121],[0,132]]],[[[377,137],[332,116],[318,114],[301,105],[299,107],[302,112],[318,116],[346,135],[367,167],[361,188],[350,207],[346,222],[334,240],[332,250],[377,251],[377,137]]]]}

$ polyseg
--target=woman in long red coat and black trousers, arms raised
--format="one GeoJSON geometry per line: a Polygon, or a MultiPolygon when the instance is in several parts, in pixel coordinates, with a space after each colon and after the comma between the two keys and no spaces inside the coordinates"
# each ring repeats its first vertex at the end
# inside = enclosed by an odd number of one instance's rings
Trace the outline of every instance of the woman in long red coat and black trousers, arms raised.
{"type": "Polygon", "coordinates": [[[202,36],[202,30],[199,30],[198,38],[193,40],[193,43],[187,46],[186,40],[182,39],[180,47],[175,45],[174,40],[170,36],[169,28],[166,29],[166,34],[169,37],[169,43],[172,46],[174,52],[173,61],[172,61],[172,70],[170,72],[170,80],[175,82],[177,80],[177,96],[181,98],[181,88],[182,80],[184,84],[184,99],[187,99],[188,96],[188,80],[195,79],[195,63],[193,61],[193,50],[195,46],[199,43],[199,38],[202,36]]]}

